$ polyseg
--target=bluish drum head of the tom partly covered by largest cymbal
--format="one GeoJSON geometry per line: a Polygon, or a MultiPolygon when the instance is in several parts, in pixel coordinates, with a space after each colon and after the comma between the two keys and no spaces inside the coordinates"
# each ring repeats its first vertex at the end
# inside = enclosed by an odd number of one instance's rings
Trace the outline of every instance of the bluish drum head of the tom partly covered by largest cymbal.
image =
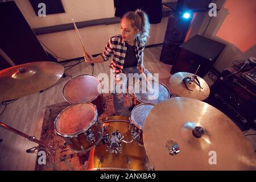
{"type": "Polygon", "coordinates": [[[131,111],[131,122],[134,123],[139,129],[143,130],[144,121],[150,112],[150,110],[154,107],[153,104],[140,104],[131,111]]]}

